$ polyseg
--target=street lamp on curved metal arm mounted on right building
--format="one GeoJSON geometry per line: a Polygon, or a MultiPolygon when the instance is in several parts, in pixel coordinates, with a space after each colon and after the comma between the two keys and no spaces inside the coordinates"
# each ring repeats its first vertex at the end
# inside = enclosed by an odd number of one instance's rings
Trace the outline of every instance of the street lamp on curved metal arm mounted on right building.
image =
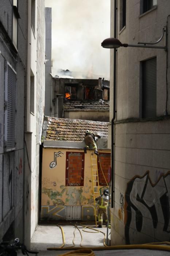
{"type": "Polygon", "coordinates": [[[143,47],[143,48],[157,48],[157,49],[167,49],[167,29],[166,27],[163,28],[163,34],[161,35],[161,38],[159,38],[158,41],[153,43],[146,43],[146,42],[139,42],[138,44],[122,44],[119,39],[117,38],[107,38],[104,39],[104,41],[101,43],[101,46],[103,48],[119,48],[119,47],[143,47]],[[165,46],[155,46],[155,44],[158,44],[165,34],[165,46]]]}

